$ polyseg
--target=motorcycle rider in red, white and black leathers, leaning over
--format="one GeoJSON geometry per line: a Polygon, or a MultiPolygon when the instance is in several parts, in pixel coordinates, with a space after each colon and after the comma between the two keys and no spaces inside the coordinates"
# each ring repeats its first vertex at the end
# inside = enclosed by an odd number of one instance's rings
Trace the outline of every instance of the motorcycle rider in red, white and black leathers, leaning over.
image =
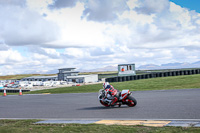
{"type": "Polygon", "coordinates": [[[112,99],[110,105],[113,106],[119,100],[119,91],[108,82],[103,83],[105,89],[105,98],[112,99]]]}

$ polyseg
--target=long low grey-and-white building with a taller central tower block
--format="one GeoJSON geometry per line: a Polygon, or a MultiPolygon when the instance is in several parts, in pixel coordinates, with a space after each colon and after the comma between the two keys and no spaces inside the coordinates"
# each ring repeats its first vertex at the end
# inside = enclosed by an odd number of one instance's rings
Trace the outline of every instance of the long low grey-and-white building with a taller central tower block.
{"type": "Polygon", "coordinates": [[[23,78],[22,81],[67,81],[68,83],[90,83],[97,82],[98,75],[79,75],[76,68],[62,68],[58,69],[59,73],[57,76],[32,76],[23,78]]]}

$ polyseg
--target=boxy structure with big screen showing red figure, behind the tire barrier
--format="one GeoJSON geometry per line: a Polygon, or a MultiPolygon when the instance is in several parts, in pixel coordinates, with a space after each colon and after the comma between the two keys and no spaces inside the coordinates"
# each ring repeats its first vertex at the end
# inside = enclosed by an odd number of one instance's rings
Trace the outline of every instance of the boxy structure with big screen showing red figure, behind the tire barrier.
{"type": "Polygon", "coordinates": [[[135,64],[119,64],[118,76],[136,75],[135,64]]]}

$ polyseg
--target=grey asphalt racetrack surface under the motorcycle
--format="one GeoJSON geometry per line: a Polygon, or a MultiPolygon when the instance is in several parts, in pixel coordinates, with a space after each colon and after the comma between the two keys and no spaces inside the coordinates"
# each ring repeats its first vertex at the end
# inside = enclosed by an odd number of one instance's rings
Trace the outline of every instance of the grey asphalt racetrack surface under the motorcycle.
{"type": "Polygon", "coordinates": [[[200,119],[200,89],[136,91],[135,107],[104,107],[97,93],[0,96],[0,119],[200,119]]]}

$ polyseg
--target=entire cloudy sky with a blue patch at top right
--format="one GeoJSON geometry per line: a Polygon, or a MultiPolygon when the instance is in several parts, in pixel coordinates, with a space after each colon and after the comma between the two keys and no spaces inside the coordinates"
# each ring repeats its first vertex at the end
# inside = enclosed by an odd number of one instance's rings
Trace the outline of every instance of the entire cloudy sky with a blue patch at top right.
{"type": "Polygon", "coordinates": [[[0,75],[199,61],[199,5],[199,0],[0,0],[0,75]]]}

